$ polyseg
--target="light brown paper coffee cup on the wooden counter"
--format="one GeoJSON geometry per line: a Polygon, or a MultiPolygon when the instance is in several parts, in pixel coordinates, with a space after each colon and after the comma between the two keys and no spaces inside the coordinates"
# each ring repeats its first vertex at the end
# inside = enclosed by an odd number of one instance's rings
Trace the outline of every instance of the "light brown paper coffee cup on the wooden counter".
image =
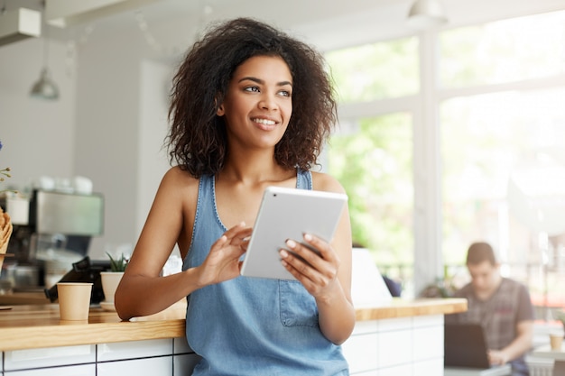
{"type": "Polygon", "coordinates": [[[91,292],[92,283],[57,283],[60,319],[69,321],[88,320],[91,292]]]}

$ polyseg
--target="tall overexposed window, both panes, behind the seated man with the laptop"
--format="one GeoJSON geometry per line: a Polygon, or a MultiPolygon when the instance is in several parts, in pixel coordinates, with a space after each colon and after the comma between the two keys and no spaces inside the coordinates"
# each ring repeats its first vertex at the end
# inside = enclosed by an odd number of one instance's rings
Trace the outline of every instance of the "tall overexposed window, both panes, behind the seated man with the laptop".
{"type": "Polygon", "coordinates": [[[564,47],[565,12],[440,34],[441,86],[467,88],[440,103],[449,277],[468,280],[468,244],[484,240],[536,306],[565,305],[564,47]]]}

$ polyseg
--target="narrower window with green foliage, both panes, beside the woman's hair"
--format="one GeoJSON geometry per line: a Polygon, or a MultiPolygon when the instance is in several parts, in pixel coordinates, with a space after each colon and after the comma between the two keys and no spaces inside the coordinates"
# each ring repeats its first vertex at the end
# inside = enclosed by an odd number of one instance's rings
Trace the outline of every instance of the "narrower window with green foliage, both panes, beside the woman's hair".
{"type": "Polygon", "coordinates": [[[387,275],[412,279],[412,115],[379,112],[375,101],[418,92],[416,38],[378,42],[327,55],[341,104],[363,115],[340,119],[328,148],[329,173],[349,196],[353,241],[387,275]]]}

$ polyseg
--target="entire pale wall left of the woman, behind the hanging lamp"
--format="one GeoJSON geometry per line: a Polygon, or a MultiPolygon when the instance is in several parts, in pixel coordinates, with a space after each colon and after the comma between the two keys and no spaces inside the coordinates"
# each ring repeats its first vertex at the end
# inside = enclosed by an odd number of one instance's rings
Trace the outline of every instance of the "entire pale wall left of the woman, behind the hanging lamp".
{"type": "Polygon", "coordinates": [[[43,175],[92,179],[106,200],[93,259],[105,259],[107,245],[134,245],[168,168],[162,142],[171,67],[140,58],[138,42],[93,36],[68,63],[67,45],[51,41],[54,102],[28,96],[42,68],[42,39],[0,47],[0,165],[13,170],[2,188],[26,191],[43,175]]]}

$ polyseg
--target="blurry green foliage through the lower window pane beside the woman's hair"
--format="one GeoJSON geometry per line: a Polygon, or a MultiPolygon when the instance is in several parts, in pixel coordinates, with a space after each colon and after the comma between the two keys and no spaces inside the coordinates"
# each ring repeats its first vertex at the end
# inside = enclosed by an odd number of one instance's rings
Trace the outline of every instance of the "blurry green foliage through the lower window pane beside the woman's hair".
{"type": "Polygon", "coordinates": [[[412,126],[408,115],[362,119],[332,137],[329,173],[346,188],[354,243],[380,265],[413,262],[412,126]]]}

